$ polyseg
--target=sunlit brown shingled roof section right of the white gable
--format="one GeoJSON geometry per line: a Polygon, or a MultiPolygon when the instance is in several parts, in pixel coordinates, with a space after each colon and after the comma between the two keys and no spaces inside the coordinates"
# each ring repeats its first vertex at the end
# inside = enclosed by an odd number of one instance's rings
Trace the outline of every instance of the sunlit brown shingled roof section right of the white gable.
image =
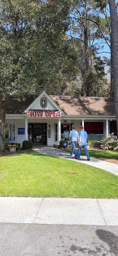
{"type": "Polygon", "coordinates": [[[115,115],[114,98],[51,96],[67,115],[115,115]]]}

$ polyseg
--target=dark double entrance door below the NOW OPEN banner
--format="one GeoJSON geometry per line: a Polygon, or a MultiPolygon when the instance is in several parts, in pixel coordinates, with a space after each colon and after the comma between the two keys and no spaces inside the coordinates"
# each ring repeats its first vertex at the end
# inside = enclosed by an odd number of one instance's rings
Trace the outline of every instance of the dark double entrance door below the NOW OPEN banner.
{"type": "Polygon", "coordinates": [[[28,139],[33,144],[47,145],[47,123],[28,123],[28,139]]]}

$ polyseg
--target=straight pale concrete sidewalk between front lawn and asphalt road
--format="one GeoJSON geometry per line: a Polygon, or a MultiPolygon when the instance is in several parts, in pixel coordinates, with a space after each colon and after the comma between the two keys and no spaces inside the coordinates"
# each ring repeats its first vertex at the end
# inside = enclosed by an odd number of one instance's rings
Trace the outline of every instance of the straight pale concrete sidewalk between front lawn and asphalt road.
{"type": "Polygon", "coordinates": [[[118,199],[0,197],[1,223],[118,225],[118,199]]]}

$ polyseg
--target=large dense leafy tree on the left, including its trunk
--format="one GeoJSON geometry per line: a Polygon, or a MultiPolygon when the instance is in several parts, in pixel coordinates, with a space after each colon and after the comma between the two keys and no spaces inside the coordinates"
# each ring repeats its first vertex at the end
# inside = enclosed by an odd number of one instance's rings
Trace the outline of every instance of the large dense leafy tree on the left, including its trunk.
{"type": "MultiPolygon", "coordinates": [[[[1,0],[0,2],[0,150],[3,149],[5,105],[47,85],[49,51],[56,49],[68,26],[68,0],[1,0]],[[64,6],[63,6],[64,3],[64,6]]],[[[53,71],[54,70],[54,71],[53,71]]]]}

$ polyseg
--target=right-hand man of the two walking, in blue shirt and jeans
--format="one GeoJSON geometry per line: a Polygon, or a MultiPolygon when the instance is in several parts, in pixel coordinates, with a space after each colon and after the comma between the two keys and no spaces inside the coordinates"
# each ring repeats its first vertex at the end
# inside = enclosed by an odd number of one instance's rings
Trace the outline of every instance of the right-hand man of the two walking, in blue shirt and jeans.
{"type": "Polygon", "coordinates": [[[80,154],[81,154],[81,148],[84,149],[84,152],[87,156],[87,160],[89,161],[89,153],[87,151],[87,132],[85,130],[83,130],[83,126],[80,126],[80,132],[79,132],[79,144],[78,144],[78,152],[77,152],[77,156],[75,156],[75,159],[79,159],[80,158],[80,154]]]}

